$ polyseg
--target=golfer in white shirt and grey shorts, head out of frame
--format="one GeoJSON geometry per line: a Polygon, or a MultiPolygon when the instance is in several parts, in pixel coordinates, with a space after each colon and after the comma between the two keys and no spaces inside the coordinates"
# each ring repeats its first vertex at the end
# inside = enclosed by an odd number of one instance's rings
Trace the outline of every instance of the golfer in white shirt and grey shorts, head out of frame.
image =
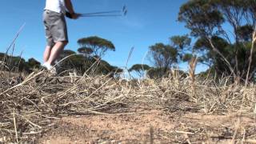
{"type": "Polygon", "coordinates": [[[54,69],[54,62],[69,42],[66,28],[66,10],[72,19],[77,19],[71,0],[46,0],[46,8],[43,12],[43,22],[46,29],[47,46],[43,55],[42,66],[47,70],[54,69]]]}

